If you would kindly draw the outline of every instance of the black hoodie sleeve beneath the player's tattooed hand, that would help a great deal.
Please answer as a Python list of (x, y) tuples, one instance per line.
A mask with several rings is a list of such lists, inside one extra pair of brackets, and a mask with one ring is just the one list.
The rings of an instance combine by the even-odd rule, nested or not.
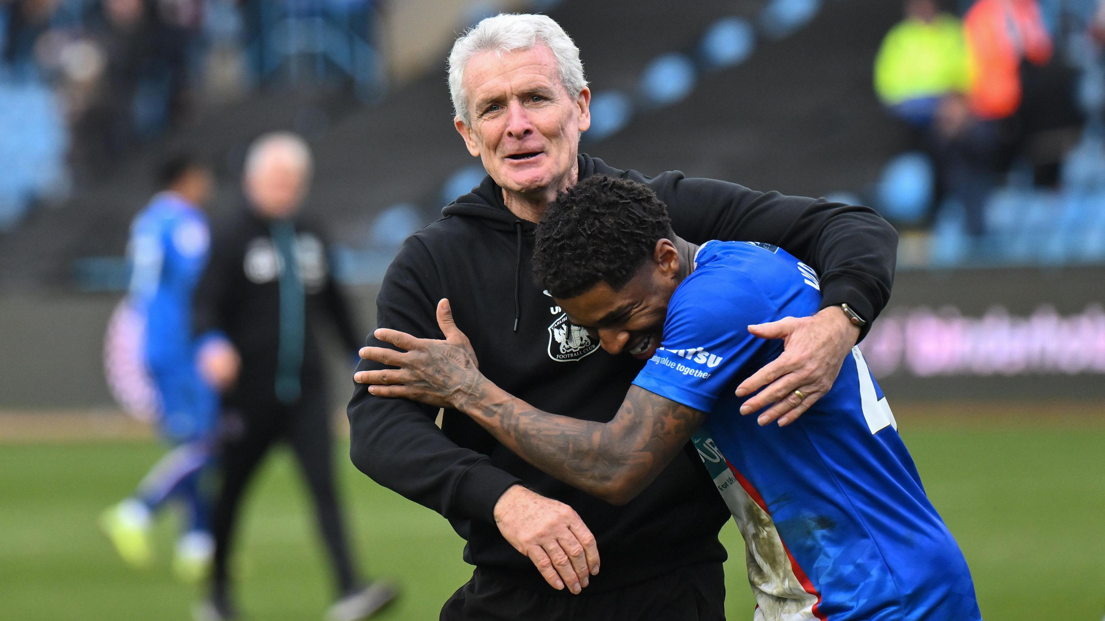
[[(438, 271), (418, 235), (388, 267), (377, 297), (379, 327), (420, 338), (443, 338), (435, 316), (441, 297)], [(366, 345), (391, 347), (368, 335)], [(361, 360), (358, 371), (385, 368)], [(522, 481), (462, 449), (434, 424), (438, 408), (385, 399), (356, 385), (347, 410), (352, 463), (373, 481), (450, 519), (494, 524), (495, 503)]]

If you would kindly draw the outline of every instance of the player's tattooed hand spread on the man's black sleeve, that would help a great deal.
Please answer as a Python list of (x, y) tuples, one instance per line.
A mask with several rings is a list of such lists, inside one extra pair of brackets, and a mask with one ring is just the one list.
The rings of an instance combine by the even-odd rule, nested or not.
[(438, 326), (445, 340), (414, 338), (387, 328), (373, 335), (406, 351), (387, 347), (362, 347), (360, 357), (398, 369), (357, 371), (352, 378), (369, 385), (377, 397), (412, 399), (438, 408), (463, 409), (465, 399), (474, 398), (485, 381), (469, 337), (456, 327), (448, 299), (438, 303)]

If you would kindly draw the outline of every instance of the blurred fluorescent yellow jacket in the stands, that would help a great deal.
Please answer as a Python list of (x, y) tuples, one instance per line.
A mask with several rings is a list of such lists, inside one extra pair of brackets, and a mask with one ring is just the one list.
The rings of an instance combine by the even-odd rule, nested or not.
[(906, 19), (891, 29), (875, 56), (875, 93), (887, 106), (908, 99), (965, 92), (967, 48), (959, 20)]

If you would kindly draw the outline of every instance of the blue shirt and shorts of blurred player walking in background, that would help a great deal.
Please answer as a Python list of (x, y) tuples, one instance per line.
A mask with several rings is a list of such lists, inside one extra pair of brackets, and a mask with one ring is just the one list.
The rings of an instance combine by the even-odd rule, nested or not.
[(172, 192), (155, 196), (131, 224), (129, 299), (143, 323), (143, 362), (162, 429), (178, 440), (207, 433), (218, 407), (196, 368), (191, 319), (209, 252), (207, 217)]

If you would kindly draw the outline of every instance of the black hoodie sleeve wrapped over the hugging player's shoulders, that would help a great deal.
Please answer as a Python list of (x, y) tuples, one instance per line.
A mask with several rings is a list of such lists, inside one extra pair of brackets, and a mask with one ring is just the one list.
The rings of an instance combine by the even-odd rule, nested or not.
[(897, 231), (869, 207), (757, 192), (715, 179), (665, 172), (651, 183), (680, 236), (778, 245), (818, 271), (821, 307), (846, 303), (867, 325), (886, 306), (894, 284)]

